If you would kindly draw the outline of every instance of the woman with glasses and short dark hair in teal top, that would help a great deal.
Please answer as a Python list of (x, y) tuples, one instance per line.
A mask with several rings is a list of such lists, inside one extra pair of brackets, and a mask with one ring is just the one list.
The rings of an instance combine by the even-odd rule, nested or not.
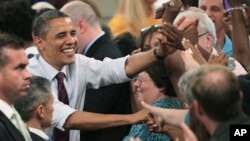
[[(181, 108), (169, 81), (163, 61), (159, 60), (154, 66), (139, 73), (133, 81), (135, 81), (135, 93), (133, 96), (136, 101), (143, 100), (148, 104), (161, 108)], [(139, 104), (136, 106), (137, 110), (141, 108)], [(133, 125), (124, 141), (129, 140), (130, 137), (139, 137), (143, 141), (168, 141), (171, 139), (165, 133), (148, 131), (146, 124)]]

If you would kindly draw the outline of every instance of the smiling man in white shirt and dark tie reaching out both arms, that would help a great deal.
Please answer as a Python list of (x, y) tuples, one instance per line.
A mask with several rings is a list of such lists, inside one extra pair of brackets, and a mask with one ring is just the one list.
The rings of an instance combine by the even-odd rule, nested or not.
[[(98, 61), (75, 54), (77, 37), (70, 18), (58, 10), (50, 10), (38, 16), (33, 22), (33, 40), (38, 47), (38, 55), (31, 58), (28, 69), (33, 75), (51, 81), (55, 98), (52, 124), (65, 129), (101, 129), (118, 125), (133, 124), (148, 117), (148, 111), (130, 115), (103, 115), (81, 112), (86, 88), (129, 81), (137, 73), (146, 69), (157, 59), (164, 58), (173, 49), (160, 47), (120, 59)], [(64, 85), (69, 105), (58, 100), (55, 76), (63, 72)], [(78, 111), (77, 111), (78, 110)], [(79, 131), (70, 131), (70, 140), (79, 141)]]

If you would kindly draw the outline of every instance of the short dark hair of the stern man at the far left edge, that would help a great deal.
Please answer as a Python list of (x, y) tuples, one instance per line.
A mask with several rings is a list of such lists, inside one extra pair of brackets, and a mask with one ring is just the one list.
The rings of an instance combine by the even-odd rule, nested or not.
[(21, 38), (7, 33), (0, 33), (0, 68), (8, 63), (8, 57), (5, 55), (5, 49), (23, 49), (24, 42)]

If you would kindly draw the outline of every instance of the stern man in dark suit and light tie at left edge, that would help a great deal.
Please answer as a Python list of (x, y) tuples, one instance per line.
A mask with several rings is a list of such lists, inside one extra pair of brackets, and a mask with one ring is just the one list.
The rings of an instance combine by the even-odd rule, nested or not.
[(31, 141), (27, 126), (14, 108), (14, 102), (27, 95), (31, 74), (24, 43), (0, 34), (0, 140)]

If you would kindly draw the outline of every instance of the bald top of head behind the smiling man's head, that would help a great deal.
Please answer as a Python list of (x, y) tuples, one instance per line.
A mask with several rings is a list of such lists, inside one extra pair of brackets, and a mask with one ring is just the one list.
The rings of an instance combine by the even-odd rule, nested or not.
[(89, 25), (98, 23), (98, 18), (92, 7), (82, 1), (71, 1), (65, 4), (60, 11), (67, 14), (73, 23), (79, 22), (82, 19)]

